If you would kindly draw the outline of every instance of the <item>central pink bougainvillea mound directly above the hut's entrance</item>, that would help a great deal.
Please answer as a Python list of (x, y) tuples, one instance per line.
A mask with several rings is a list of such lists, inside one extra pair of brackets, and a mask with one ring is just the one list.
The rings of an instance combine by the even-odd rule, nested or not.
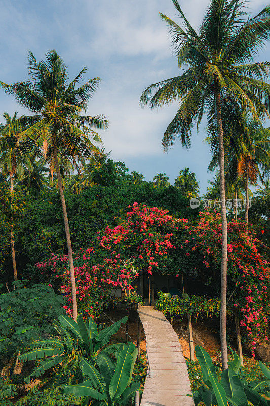
[(150, 275), (155, 270), (177, 275), (180, 269), (174, 251), (179, 236), (183, 239), (183, 235), (191, 234), (188, 220), (170, 216), (167, 210), (138, 203), (128, 206), (128, 209), (126, 220), (121, 225), (106, 227), (103, 235), (99, 233), (100, 246), (113, 255), (125, 252), (137, 269), (145, 269)]

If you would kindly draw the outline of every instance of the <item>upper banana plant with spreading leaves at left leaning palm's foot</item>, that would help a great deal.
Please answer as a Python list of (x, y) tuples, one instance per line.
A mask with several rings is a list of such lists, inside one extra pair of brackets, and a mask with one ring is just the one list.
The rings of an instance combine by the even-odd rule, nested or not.
[(79, 368), (79, 357), (83, 356), (91, 362), (96, 362), (95, 360), (98, 359), (99, 363), (113, 368), (108, 358), (108, 351), (112, 352), (113, 349), (120, 348), (121, 344), (102, 349), (109, 342), (110, 337), (119, 330), (121, 323), (126, 323), (127, 320), (127, 316), (123, 317), (98, 332), (92, 317), (88, 317), (85, 323), (82, 315), (78, 316), (77, 322), (68, 316), (60, 316), (54, 323), (58, 336), (34, 342), (30, 346), (30, 351), (19, 357), (20, 362), (39, 360), (39, 365), (25, 378), (25, 381), (30, 383), (32, 378), (40, 377), (46, 370), (61, 364), (61, 372), (57, 376), (59, 384), (80, 382), (83, 376)]

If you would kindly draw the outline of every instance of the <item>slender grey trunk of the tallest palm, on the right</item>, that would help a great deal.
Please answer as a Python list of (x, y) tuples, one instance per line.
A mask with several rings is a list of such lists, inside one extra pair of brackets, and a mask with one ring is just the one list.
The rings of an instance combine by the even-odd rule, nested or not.
[(221, 293), (220, 293), (220, 344), (222, 369), (228, 369), (227, 337), (226, 337), (226, 306), (227, 306), (227, 214), (225, 201), (225, 167), (224, 167), (224, 141), (221, 118), (220, 92), (215, 84), (217, 128), (219, 140), (219, 174), (220, 174), (220, 204), (222, 223), (221, 243)]

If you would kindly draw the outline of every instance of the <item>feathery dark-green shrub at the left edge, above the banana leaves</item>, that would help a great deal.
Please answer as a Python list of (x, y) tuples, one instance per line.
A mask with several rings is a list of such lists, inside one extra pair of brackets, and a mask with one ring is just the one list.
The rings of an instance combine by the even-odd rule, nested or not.
[(0, 350), (20, 351), (33, 340), (50, 334), (48, 320), (63, 313), (63, 298), (45, 284), (26, 287), (27, 281), (14, 282), (16, 289), (0, 295)]

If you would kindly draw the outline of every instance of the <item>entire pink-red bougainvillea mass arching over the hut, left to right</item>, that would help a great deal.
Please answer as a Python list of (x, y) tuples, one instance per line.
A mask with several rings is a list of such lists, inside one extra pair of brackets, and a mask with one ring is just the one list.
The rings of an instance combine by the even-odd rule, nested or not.
[[(74, 254), (79, 312), (97, 316), (112, 288), (132, 291), (142, 271), (192, 274), (188, 293), (220, 296), (221, 217), (216, 210), (200, 212), (196, 222), (177, 219), (168, 211), (134, 203), (115, 227), (99, 231), (93, 247)], [(259, 253), (260, 241), (242, 222), (228, 223), (228, 307), (240, 312), (241, 327), (252, 344), (267, 339), (269, 263)], [(72, 315), (68, 259), (52, 255), (38, 264), (61, 281)], [(192, 290), (192, 291), (191, 291)]]

